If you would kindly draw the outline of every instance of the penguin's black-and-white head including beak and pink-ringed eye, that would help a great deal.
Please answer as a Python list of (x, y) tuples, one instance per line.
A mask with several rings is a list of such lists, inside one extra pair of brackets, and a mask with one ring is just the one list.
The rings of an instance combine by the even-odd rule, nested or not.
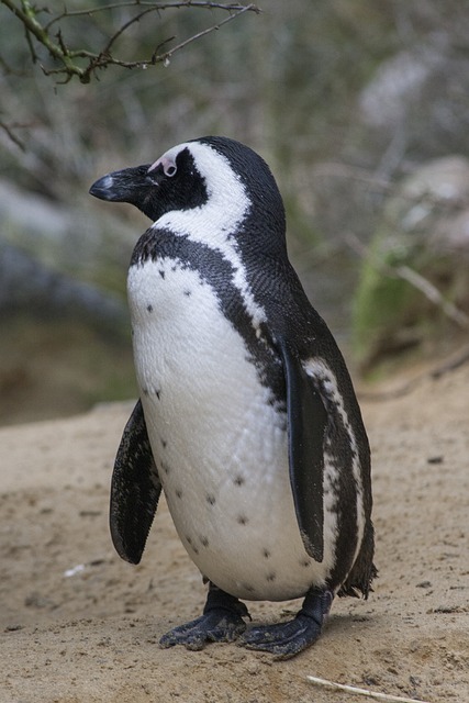
[(250, 215), (284, 234), (283, 203), (269, 167), (253, 149), (227, 137), (174, 146), (153, 164), (103, 176), (90, 193), (129, 202), (153, 222), (168, 213), (198, 210), (221, 222), (231, 215), (241, 223)]

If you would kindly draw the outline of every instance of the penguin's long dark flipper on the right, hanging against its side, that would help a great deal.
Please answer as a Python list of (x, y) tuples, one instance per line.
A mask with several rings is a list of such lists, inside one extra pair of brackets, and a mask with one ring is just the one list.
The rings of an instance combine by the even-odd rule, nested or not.
[(301, 537), (308, 554), (324, 557), (324, 434), (327, 411), (315, 379), (298, 352), (278, 339), (287, 386), (290, 484)]

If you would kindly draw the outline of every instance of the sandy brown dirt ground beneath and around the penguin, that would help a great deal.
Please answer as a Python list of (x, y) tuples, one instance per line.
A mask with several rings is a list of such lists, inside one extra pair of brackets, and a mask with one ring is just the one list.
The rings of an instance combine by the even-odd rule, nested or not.
[[(468, 702), (469, 364), (425, 373), (397, 398), (364, 394), (361, 405), (379, 579), (368, 601), (337, 600), (322, 638), (289, 661), (236, 645), (158, 647), (169, 627), (200, 614), (204, 587), (165, 505), (141, 566), (113, 551), (109, 482), (131, 405), (0, 429), (0, 702), (364, 700), (306, 674)], [(249, 607), (270, 621), (299, 603)]]

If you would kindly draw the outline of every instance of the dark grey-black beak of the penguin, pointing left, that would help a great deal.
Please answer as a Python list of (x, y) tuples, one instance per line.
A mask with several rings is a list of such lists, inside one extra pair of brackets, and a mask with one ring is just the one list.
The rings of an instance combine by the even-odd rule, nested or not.
[(155, 187), (155, 179), (148, 175), (150, 164), (112, 171), (98, 179), (90, 188), (90, 194), (100, 200), (137, 204), (145, 192)]

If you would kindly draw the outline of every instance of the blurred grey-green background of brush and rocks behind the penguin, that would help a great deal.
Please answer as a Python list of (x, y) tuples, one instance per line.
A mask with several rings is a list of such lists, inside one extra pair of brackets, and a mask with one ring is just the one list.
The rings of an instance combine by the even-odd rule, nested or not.
[[(291, 258), (355, 377), (382, 378), (464, 342), (469, 3), (259, 7), (165, 66), (110, 66), (82, 85), (45, 76), (40, 64), (52, 59), (34, 45), (33, 63), (0, 3), (0, 424), (136, 397), (125, 277), (147, 221), (88, 189), (206, 134), (269, 163)], [(64, 41), (99, 48), (131, 12), (64, 18)], [(119, 51), (138, 60), (225, 15), (167, 9), (129, 27)]]

